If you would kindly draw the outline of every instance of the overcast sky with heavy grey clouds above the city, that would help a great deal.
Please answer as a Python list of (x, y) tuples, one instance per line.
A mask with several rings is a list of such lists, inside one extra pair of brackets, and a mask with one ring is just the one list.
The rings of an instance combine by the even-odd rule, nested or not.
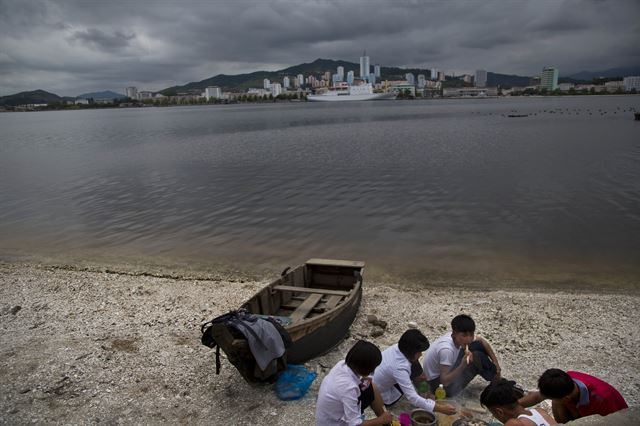
[(640, 0), (0, 0), (0, 95), (161, 90), (316, 58), (560, 75), (640, 65)]

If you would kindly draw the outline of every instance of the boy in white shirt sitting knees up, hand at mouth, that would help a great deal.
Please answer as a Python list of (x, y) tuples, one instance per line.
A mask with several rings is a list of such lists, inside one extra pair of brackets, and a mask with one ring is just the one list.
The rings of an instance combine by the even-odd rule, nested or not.
[(444, 385), (453, 396), (480, 375), (487, 381), (500, 379), (500, 364), (485, 339), (475, 336), (476, 324), (469, 315), (451, 321), (451, 333), (439, 337), (427, 350), (423, 367), (431, 389)]

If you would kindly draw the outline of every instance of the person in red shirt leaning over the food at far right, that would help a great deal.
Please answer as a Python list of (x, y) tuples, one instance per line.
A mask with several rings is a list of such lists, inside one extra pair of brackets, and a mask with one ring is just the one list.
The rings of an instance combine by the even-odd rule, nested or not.
[(553, 417), (566, 423), (580, 417), (606, 416), (628, 408), (620, 392), (597, 377), (577, 371), (551, 368), (538, 379), (538, 390), (529, 392), (520, 403), (525, 407), (551, 399)]

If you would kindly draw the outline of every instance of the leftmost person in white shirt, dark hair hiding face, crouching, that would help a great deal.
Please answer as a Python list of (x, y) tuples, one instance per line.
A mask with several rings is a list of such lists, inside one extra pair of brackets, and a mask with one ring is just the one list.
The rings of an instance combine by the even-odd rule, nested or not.
[[(359, 340), (322, 380), (316, 403), (318, 426), (379, 426), (391, 423), (393, 416), (385, 410), (377, 387), (369, 377), (382, 361), (380, 349)], [(375, 419), (364, 420), (364, 410), (371, 407)]]

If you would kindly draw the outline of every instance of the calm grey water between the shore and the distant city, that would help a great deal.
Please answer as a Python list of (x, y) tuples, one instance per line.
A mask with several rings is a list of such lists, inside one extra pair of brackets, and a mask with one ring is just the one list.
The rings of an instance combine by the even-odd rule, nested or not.
[(632, 109), (640, 97), (0, 114), (0, 257), (633, 280)]

